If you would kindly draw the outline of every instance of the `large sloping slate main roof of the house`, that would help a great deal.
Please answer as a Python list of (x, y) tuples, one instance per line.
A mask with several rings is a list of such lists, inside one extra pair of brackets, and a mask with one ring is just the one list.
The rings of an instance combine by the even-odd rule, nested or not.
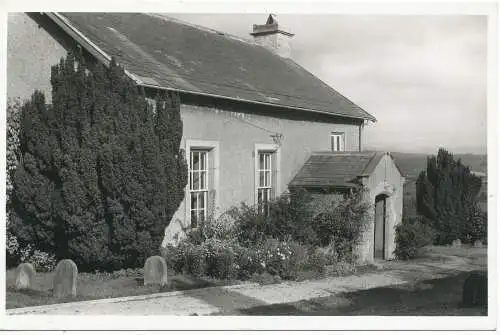
[(294, 61), (251, 41), (157, 14), (47, 15), (89, 42), (85, 48), (115, 57), (140, 85), (375, 121)]

